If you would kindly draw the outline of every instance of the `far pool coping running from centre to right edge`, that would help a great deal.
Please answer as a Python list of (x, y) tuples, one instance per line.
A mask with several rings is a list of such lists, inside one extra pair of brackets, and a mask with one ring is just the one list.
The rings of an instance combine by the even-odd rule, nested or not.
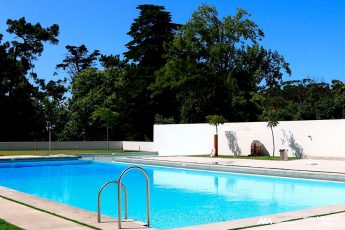
[(119, 163), (144, 164), (152, 166), (174, 167), (183, 169), (207, 170), (215, 172), (230, 172), (242, 174), (254, 174), (264, 176), (277, 176), (289, 178), (302, 178), (313, 180), (327, 180), (345, 182), (345, 173), (326, 172), (326, 171), (309, 171), (309, 170), (294, 170), (284, 168), (267, 168), (267, 167), (252, 167), (252, 166), (236, 166), (226, 164), (210, 164), (200, 162), (183, 162), (183, 161), (164, 161), (156, 159), (145, 159), (136, 157), (120, 157), (115, 160)]

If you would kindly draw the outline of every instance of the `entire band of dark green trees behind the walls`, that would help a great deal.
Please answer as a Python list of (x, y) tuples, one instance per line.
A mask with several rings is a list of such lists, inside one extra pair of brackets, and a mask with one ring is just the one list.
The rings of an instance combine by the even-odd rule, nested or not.
[[(153, 124), (345, 118), (345, 86), (311, 79), (283, 81), (291, 70), (266, 49), (264, 32), (242, 9), (219, 17), (202, 5), (184, 25), (162, 6), (140, 5), (127, 51), (104, 55), (66, 46), (63, 80), (45, 82), (33, 61), (58, 43), (58, 25), (25, 18), (0, 34), (0, 141), (149, 140)], [(303, 76), (297, 76), (299, 78)], [(301, 78), (302, 79), (302, 78)], [(106, 128), (106, 129), (105, 129)]]

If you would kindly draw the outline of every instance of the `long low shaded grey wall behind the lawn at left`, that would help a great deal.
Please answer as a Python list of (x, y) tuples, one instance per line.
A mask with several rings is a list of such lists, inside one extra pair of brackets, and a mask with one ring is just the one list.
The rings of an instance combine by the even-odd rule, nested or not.
[[(110, 149), (122, 149), (122, 141), (109, 141)], [(46, 150), (48, 142), (0, 142), (0, 150)], [(51, 149), (107, 149), (106, 141), (51, 142)]]

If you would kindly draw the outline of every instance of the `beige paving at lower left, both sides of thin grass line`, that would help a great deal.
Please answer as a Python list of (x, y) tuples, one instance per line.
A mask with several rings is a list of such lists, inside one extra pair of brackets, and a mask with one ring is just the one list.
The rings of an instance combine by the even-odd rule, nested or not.
[[(117, 229), (116, 219), (103, 216), (102, 223), (97, 223), (97, 214), (83, 209), (60, 204), (1, 186), (0, 195), (93, 227), (106, 230)], [(4, 219), (24, 229), (90, 229), (72, 221), (3, 198), (0, 198), (0, 219)], [(136, 221), (122, 222), (122, 227), (127, 229), (148, 229), (143, 226), (142, 223)]]

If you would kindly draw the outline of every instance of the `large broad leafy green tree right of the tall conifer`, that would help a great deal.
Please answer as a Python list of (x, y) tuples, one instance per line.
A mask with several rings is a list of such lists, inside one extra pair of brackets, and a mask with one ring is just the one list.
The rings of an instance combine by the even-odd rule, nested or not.
[(167, 64), (153, 86), (157, 97), (176, 100), (181, 122), (202, 122), (210, 113), (229, 121), (256, 119), (250, 93), (263, 81), (273, 87), (289, 65), (277, 52), (259, 45), (264, 34), (245, 10), (218, 17), (203, 5), (181, 27), (167, 54)]

